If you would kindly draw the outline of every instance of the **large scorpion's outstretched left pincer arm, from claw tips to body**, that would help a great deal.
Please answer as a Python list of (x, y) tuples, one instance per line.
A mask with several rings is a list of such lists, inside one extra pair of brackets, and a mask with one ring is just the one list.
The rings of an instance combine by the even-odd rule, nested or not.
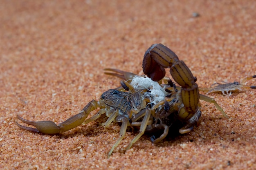
[(66, 121), (60, 123), (59, 125), (56, 125), (53, 121), (29, 121), (26, 119), (23, 119), (20, 116), (17, 116), (17, 118), (21, 121), (23, 121), (25, 124), (35, 126), (36, 128), (30, 128), (26, 126), (22, 126), (18, 124), (16, 121), (16, 125), (24, 130), (28, 130), (31, 132), (40, 132), (45, 134), (56, 134), (60, 132), (65, 132), (67, 130), (73, 129), (85, 121), (85, 119), (88, 117), (89, 113), (92, 110), (97, 109), (97, 107), (101, 107), (100, 102), (97, 102), (95, 100), (92, 100), (89, 102), (77, 115), (74, 115), (67, 119)]

